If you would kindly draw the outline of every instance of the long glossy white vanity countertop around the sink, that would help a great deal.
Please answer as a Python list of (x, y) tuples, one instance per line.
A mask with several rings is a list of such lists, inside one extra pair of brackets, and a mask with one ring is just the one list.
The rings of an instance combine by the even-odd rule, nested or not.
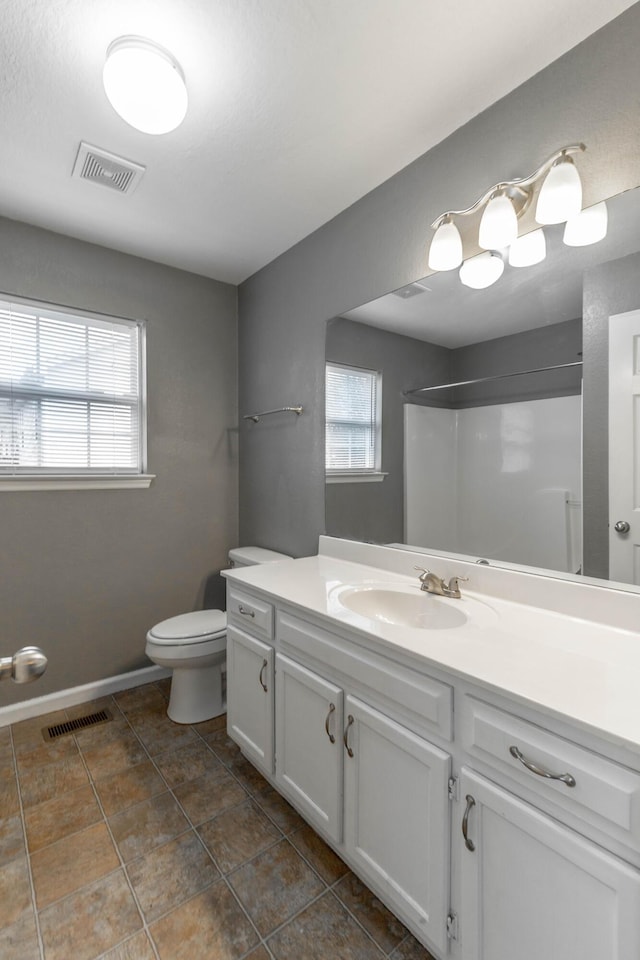
[[(322, 538), (321, 543), (327, 540)], [(369, 548), (370, 556), (376, 562), (397, 567), (393, 558), (387, 562), (387, 556), (379, 552), (381, 549), (387, 550)], [(395, 553), (397, 551), (388, 551), (389, 556)], [(411, 571), (414, 555), (407, 560), (404, 552), (402, 559), (407, 571)], [(425, 557), (417, 555), (417, 560), (420, 559), (426, 565)], [(477, 568), (473, 572), (478, 574)], [(447, 570), (444, 573), (450, 575)], [(425, 664), (551, 711), (640, 752), (640, 633), (617, 625), (621, 618), (614, 615), (616, 600), (619, 605), (626, 605), (622, 617), (625, 623), (633, 619), (634, 610), (629, 604), (637, 605), (640, 628), (640, 596), (629, 601), (626, 595), (616, 598), (615, 591), (580, 585), (581, 593), (576, 595), (574, 591), (572, 603), (567, 604), (568, 609), (573, 607), (570, 615), (507, 599), (510, 576), (519, 578), (512, 580), (513, 593), (522, 597), (523, 590), (530, 589), (536, 603), (544, 601), (545, 589), (550, 596), (559, 593), (562, 597), (562, 588), (557, 582), (545, 585), (540, 583), (543, 578), (535, 575), (483, 569), (475, 580), (486, 585), (491, 584), (493, 578), (499, 586), (499, 589), (494, 586), (494, 593), (465, 590), (462, 584), (460, 600), (442, 601), (469, 611), (464, 625), (420, 629), (371, 620), (339, 602), (340, 588), (345, 584), (384, 587), (403, 583), (419, 592), (417, 574), (403, 576), (396, 569), (354, 563), (340, 556), (318, 555), (233, 569), (225, 571), (225, 576), (238, 586), (246, 584), (301, 612), (324, 618), (328, 629), (333, 627), (340, 632), (340, 627), (347, 628), (362, 638), (360, 642), (373, 637), (379, 645), (401, 649)], [(531, 584), (523, 587), (523, 577)], [(572, 586), (567, 585), (568, 596)], [(595, 600), (588, 593), (593, 590), (601, 591)], [(501, 596), (497, 595), (500, 593)], [(602, 611), (599, 622), (575, 615), (576, 596), (589, 611), (599, 600)], [(557, 607), (558, 603), (554, 603)], [(611, 609), (611, 617), (607, 607)], [(612, 622), (607, 623), (607, 619)]]

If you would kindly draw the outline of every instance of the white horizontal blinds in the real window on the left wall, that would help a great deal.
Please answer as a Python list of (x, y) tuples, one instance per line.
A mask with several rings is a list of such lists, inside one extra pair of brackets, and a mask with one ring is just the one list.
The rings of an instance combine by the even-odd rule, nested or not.
[(142, 328), (0, 300), (0, 474), (143, 469)]

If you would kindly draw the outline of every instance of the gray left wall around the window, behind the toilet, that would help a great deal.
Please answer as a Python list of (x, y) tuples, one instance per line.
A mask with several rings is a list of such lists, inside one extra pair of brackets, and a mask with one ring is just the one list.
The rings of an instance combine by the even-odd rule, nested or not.
[(237, 543), (236, 288), (0, 219), (0, 290), (147, 321), (148, 490), (0, 492), (0, 652), (42, 646), (0, 705), (149, 665)]

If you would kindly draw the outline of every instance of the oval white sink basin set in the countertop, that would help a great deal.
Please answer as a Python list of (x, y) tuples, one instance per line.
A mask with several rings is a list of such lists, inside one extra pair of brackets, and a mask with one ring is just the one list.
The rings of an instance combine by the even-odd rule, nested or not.
[(353, 587), (340, 591), (339, 602), (368, 620), (418, 630), (449, 630), (467, 622), (459, 600), (434, 596), (424, 591), (393, 590), (384, 587)]

